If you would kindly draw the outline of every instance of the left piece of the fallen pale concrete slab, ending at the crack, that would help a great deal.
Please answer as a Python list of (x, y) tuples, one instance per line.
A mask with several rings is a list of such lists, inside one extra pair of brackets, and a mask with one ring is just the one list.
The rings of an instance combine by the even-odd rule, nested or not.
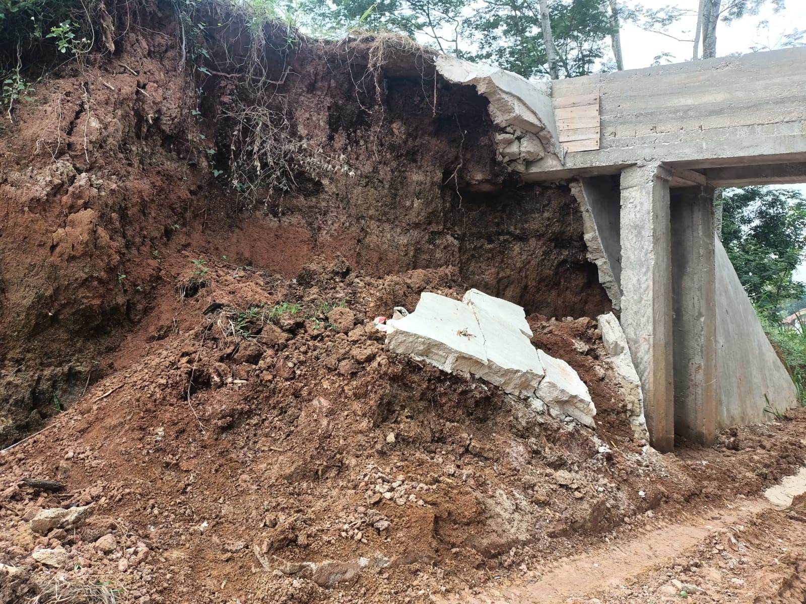
[(387, 321), (386, 343), (448, 373), (476, 373), (487, 364), (484, 336), (467, 304), (423, 292), (414, 312)]

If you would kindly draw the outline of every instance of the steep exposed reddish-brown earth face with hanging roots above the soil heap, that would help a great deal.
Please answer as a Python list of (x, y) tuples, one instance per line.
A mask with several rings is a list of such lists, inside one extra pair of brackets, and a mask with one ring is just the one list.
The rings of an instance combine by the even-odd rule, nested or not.
[(371, 275), (455, 267), (527, 312), (609, 309), (568, 189), (511, 179), (488, 101), (422, 48), (256, 38), (218, 5), (107, 10), (114, 52), (48, 73), (0, 130), (0, 443), (110, 370), (181, 250), (283, 275), (334, 252)]

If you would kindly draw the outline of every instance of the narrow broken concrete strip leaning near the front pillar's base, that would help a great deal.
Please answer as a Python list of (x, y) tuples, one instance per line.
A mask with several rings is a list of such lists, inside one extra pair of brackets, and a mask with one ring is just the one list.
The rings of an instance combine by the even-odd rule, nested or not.
[(632, 426), (636, 438), (648, 438), (641, 381), (638, 379), (638, 372), (635, 370), (633, 357), (629, 353), (627, 338), (621, 329), (621, 324), (613, 312), (598, 316), (597, 321), (599, 321), (599, 330), (602, 333), (602, 344), (605, 346), (608, 360), (618, 376), (619, 386), (624, 393), (629, 424)]

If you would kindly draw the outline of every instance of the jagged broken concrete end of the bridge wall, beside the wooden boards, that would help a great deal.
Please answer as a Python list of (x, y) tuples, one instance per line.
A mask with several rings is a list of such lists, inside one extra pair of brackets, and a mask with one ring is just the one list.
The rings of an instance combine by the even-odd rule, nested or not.
[[(435, 65), (447, 81), (475, 86), (476, 91), (490, 101), (488, 109), (492, 121), (513, 134), (512, 139), (505, 137), (499, 140), (502, 160), (506, 162), (509, 159), (516, 164), (511, 168), (522, 172), (526, 169), (526, 162), (542, 159), (535, 156), (540, 153), (535, 148), (538, 141), (545, 154), (554, 156), (551, 158), (552, 163), (563, 163), (565, 150), (559, 144), (549, 82), (526, 80), (517, 73), (471, 63), (454, 56), (440, 55)], [(511, 147), (516, 138), (526, 141), (522, 154), (520, 144), (517, 151)], [(517, 157), (513, 157), (515, 152)]]

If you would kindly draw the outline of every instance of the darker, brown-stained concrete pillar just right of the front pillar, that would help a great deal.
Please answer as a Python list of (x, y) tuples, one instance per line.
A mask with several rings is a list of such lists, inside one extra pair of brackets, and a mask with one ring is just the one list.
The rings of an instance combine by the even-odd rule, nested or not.
[(713, 188), (671, 190), (675, 432), (701, 445), (717, 435), (717, 275)]

